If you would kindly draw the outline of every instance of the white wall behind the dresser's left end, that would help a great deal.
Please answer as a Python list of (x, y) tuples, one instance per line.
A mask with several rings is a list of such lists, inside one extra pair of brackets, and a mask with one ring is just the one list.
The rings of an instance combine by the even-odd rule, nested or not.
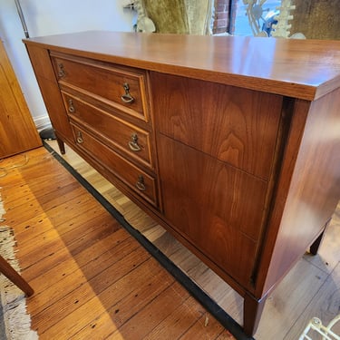
[[(126, 0), (20, 0), (30, 37), (88, 30), (132, 31), (135, 12)], [(0, 0), (0, 37), (37, 128), (49, 122), (22, 39), (15, 0)]]

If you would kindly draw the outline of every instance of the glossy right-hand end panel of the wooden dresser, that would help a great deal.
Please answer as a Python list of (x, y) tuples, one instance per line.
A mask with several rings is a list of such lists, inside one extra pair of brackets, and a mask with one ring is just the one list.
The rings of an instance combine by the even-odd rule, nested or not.
[[(335, 211), (340, 197), (339, 107), (340, 90), (316, 102), (296, 102), (291, 139), (279, 181), (280, 197), (270, 221), (272, 225), (279, 225), (279, 230), (265, 289), (272, 287), (301, 257)], [(304, 119), (306, 125), (302, 124)], [(282, 202), (286, 203), (284, 207)], [(271, 242), (267, 242), (267, 251), (270, 245)], [(264, 257), (263, 264), (266, 260)]]

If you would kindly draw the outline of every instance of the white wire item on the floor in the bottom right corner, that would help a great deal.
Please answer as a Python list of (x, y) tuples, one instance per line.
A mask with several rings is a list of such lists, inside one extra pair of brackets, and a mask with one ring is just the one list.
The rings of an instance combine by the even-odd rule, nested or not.
[[(328, 324), (323, 325), (321, 320), (317, 317), (313, 317), (309, 324), (306, 325), (306, 328), (302, 335), (298, 338), (298, 340), (314, 340), (315, 338), (310, 337), (311, 333), (317, 335), (317, 339), (322, 340), (340, 340), (340, 335), (336, 335), (332, 331), (332, 327), (340, 321), (340, 314), (335, 316), (335, 318)], [(309, 335), (308, 335), (309, 334)], [(322, 337), (321, 337), (322, 336)]]

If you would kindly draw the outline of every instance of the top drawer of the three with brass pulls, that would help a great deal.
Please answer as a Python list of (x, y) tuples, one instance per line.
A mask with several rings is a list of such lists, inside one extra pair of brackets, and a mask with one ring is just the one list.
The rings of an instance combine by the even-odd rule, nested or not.
[(58, 82), (148, 121), (145, 73), (111, 63), (51, 53)]

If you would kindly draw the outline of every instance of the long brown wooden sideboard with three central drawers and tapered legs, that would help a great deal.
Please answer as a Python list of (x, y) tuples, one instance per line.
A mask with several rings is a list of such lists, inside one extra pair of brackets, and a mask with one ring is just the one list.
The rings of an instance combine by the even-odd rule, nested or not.
[(237, 290), (253, 335), (340, 199), (340, 42), (84, 32), (24, 44), (61, 150)]

